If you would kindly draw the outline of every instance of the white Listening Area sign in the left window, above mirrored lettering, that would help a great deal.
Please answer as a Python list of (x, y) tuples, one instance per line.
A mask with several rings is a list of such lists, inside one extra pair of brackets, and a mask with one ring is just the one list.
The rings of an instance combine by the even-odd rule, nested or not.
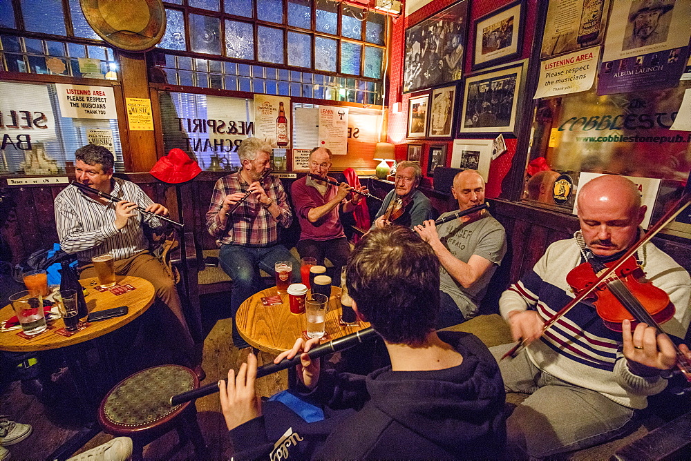
[(117, 119), (111, 86), (55, 84), (55, 91), (62, 117)]

